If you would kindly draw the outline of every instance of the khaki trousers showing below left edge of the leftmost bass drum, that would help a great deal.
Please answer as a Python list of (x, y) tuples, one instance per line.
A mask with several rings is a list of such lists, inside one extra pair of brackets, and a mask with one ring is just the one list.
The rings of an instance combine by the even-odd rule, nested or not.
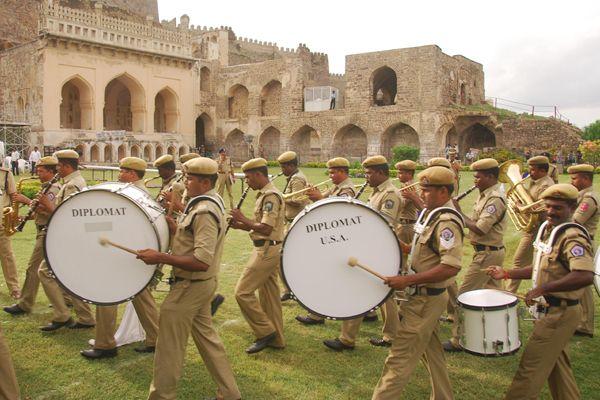
[[(48, 297), (48, 300), (52, 304), (52, 312), (54, 314), (52, 321), (65, 322), (71, 318), (71, 312), (69, 311), (67, 303), (65, 302), (64, 291), (60, 288), (56, 282), (56, 279), (54, 279), (54, 276), (48, 269), (48, 264), (46, 264), (45, 260), (40, 264), (38, 277), (40, 278), (40, 283), (44, 288), (46, 297)], [(94, 325), (96, 321), (94, 320), (94, 315), (92, 314), (90, 306), (75, 296), (69, 297), (73, 303), (73, 309), (75, 310), (75, 315), (77, 315), (77, 321), (85, 325)]]

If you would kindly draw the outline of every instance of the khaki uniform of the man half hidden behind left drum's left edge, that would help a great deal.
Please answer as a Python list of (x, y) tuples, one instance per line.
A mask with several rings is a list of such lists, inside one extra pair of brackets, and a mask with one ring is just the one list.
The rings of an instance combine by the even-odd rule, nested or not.
[[(60, 205), (67, 197), (72, 194), (81, 192), (82, 189), (86, 187), (85, 179), (81, 176), (79, 171), (74, 171), (73, 173), (67, 175), (63, 178), (63, 185), (56, 194), (56, 198), (54, 199), (54, 204), (57, 206)], [(46, 293), (46, 297), (52, 304), (53, 317), (52, 321), (54, 322), (65, 322), (71, 317), (71, 312), (67, 307), (64, 299), (64, 291), (54, 279), (54, 275), (48, 269), (48, 264), (46, 260), (43, 260), (40, 263), (40, 269), (38, 270), (38, 277), (40, 278), (40, 282), (42, 287), (44, 288), (44, 292)], [(92, 310), (87, 303), (84, 303), (82, 300), (78, 299), (75, 296), (71, 296), (71, 302), (73, 303), (73, 309), (75, 310), (75, 314), (77, 315), (78, 322), (85, 325), (94, 325), (94, 315), (92, 314)]]

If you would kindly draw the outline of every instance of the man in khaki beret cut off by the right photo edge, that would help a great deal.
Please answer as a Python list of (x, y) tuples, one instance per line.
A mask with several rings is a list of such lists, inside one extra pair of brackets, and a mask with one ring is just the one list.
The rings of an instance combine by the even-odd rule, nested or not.
[[(594, 192), (594, 166), (589, 164), (574, 165), (567, 169), (571, 175), (571, 184), (579, 190), (577, 211), (573, 214), (573, 222), (583, 225), (594, 238), (598, 227), (598, 206), (600, 197)], [(583, 316), (575, 331), (578, 336), (594, 336), (594, 292), (591, 286), (583, 291), (581, 297)]]

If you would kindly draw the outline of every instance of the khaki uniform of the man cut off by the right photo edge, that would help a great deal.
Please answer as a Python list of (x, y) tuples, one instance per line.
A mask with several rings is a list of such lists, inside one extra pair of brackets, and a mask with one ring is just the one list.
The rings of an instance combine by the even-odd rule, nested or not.
[[(580, 225), (583, 225), (589, 232), (590, 236), (594, 238), (596, 229), (598, 227), (598, 219), (600, 213), (598, 212), (598, 206), (600, 206), (600, 198), (594, 193), (593, 187), (583, 189), (579, 192), (577, 199), (577, 211), (573, 214), (573, 221)], [(583, 291), (581, 297), (581, 309), (583, 317), (581, 324), (577, 328), (578, 331), (583, 333), (594, 334), (594, 290), (592, 286), (588, 286)]]

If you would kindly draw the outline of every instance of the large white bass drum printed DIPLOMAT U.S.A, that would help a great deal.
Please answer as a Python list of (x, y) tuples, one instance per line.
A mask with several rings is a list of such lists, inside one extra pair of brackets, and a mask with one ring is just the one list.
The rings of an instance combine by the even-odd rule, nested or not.
[(396, 234), (381, 214), (358, 200), (324, 199), (292, 222), (281, 254), (283, 279), (311, 313), (356, 318), (379, 307), (392, 290), (348, 266), (350, 257), (384, 276), (398, 275), (402, 264)]

